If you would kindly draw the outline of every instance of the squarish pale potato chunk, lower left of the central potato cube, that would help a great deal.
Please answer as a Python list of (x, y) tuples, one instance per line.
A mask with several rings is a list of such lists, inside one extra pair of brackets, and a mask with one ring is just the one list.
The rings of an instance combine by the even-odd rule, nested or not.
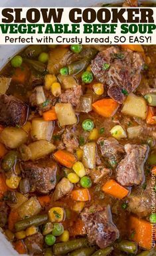
[(50, 141), (53, 130), (54, 126), (52, 121), (44, 121), (42, 118), (32, 120), (31, 135), (37, 140)]

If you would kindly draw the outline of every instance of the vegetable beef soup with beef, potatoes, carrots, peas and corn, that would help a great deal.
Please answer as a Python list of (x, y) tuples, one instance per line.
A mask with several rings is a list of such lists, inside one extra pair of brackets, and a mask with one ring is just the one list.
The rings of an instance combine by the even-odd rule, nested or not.
[(32, 45), (1, 70), (0, 226), (19, 253), (156, 255), (155, 59)]

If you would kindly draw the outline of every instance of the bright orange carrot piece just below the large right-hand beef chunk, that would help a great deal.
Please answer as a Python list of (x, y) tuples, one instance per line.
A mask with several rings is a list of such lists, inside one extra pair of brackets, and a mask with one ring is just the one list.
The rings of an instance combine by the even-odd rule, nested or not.
[(119, 185), (116, 180), (108, 180), (108, 182), (106, 182), (106, 184), (104, 184), (104, 186), (102, 187), (102, 191), (119, 199), (125, 197), (129, 192), (128, 190), (126, 190), (126, 188)]

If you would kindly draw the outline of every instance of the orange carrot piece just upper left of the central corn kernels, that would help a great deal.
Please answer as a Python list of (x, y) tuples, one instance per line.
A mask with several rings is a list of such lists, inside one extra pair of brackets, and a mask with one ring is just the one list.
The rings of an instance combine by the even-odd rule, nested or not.
[(66, 150), (58, 150), (54, 153), (54, 158), (62, 164), (62, 166), (66, 166), (67, 168), (72, 168), (73, 164), (76, 162), (76, 157), (74, 154)]

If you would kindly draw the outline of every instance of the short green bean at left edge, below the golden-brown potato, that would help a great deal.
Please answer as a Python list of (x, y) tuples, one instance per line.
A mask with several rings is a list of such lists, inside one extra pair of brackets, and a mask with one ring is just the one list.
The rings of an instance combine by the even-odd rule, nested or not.
[(5, 172), (9, 172), (11, 168), (15, 165), (17, 161), (17, 152), (11, 151), (8, 154), (6, 154), (1, 162), (1, 168)]

